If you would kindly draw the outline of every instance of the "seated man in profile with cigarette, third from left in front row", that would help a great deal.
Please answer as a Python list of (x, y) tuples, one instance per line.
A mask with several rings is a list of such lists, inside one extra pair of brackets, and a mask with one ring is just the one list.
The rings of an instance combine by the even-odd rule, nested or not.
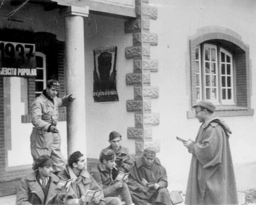
[(130, 196), (129, 188), (126, 185), (125, 174), (118, 177), (120, 180), (114, 180), (112, 170), (116, 161), (116, 154), (111, 149), (103, 149), (100, 154), (100, 162), (93, 167), (91, 174), (98, 185), (103, 188), (105, 202), (107, 205), (121, 205), (122, 200), (126, 205), (134, 205)]

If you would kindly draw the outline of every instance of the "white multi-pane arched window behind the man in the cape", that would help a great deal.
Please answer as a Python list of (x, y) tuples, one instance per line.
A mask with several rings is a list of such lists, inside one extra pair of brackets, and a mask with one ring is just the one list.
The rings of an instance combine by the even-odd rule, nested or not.
[(215, 44), (199, 44), (195, 66), (197, 101), (234, 105), (233, 55)]

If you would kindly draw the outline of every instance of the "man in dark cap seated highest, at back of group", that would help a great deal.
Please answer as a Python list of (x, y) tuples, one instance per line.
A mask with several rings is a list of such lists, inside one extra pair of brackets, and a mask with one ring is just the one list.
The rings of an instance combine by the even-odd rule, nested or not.
[(113, 170), (113, 178), (116, 178), (116, 175), (119, 171), (129, 172), (130, 169), (134, 166), (134, 159), (129, 154), (129, 150), (121, 146), (122, 136), (113, 131), (109, 133), (109, 146), (105, 149), (111, 149), (116, 153), (116, 170)]

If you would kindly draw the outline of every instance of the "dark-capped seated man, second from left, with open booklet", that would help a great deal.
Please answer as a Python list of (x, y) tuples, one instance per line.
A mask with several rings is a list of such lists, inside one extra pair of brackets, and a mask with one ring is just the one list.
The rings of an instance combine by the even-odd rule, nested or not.
[(85, 157), (80, 151), (69, 156), (65, 169), (58, 173), (61, 180), (71, 180), (66, 194), (66, 204), (74, 205), (103, 205), (104, 196), (101, 187), (86, 169)]

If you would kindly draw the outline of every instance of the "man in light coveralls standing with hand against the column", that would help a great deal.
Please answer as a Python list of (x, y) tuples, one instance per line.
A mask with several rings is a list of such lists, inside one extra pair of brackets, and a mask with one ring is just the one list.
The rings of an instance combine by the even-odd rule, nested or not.
[(61, 136), (57, 128), (59, 107), (67, 106), (74, 101), (69, 94), (58, 98), (59, 82), (48, 80), (46, 89), (30, 106), (33, 130), (30, 135), (30, 149), (33, 160), (48, 154), (54, 161), (54, 172), (64, 169), (64, 158), (61, 154)]

